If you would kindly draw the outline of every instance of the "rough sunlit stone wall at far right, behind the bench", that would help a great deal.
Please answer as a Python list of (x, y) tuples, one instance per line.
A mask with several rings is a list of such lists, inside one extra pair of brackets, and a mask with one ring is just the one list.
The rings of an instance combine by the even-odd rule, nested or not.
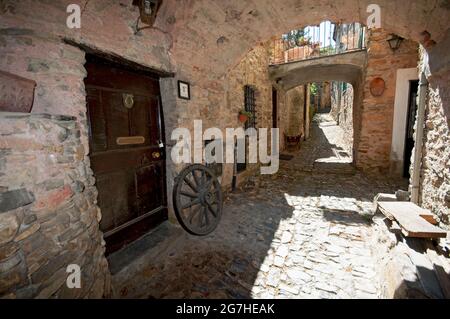
[[(446, 41), (421, 50), (421, 67), (428, 77), (420, 204), (435, 214), (440, 226), (450, 230), (450, 32)], [(426, 60), (425, 60), (426, 57)], [(428, 63), (427, 61), (439, 61)], [(414, 159), (413, 159), (414, 160)]]

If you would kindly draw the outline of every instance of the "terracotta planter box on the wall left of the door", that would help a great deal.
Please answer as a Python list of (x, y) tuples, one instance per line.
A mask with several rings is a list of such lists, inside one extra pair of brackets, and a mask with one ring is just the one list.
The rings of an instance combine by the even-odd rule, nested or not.
[(0, 112), (30, 113), (36, 82), (0, 71)]

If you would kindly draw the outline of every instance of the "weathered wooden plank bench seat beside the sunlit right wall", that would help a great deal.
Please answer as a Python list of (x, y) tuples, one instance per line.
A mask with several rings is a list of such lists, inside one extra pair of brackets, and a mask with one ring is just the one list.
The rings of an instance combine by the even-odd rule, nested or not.
[[(436, 227), (417, 213), (402, 209), (399, 205), (389, 205), (393, 202), (379, 202), (380, 211), (389, 219), (396, 220), (406, 237), (417, 238), (445, 238), (447, 233)], [(403, 202), (402, 202), (403, 203)], [(417, 210), (416, 210), (417, 212)]]

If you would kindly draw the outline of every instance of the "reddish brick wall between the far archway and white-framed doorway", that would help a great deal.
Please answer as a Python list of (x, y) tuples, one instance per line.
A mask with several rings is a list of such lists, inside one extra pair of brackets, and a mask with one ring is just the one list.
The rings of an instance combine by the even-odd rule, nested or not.
[[(369, 172), (389, 170), (397, 69), (414, 68), (419, 59), (417, 43), (404, 40), (394, 53), (387, 39), (389, 33), (382, 29), (369, 31), (360, 138), (356, 149), (357, 167)], [(386, 89), (375, 97), (370, 93), (370, 83), (377, 77), (385, 81)]]

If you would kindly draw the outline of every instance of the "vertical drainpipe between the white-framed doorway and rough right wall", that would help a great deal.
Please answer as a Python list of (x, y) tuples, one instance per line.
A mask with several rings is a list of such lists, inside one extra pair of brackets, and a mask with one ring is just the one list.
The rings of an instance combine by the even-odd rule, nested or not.
[(415, 204), (419, 204), (419, 191), (420, 191), (420, 168), (422, 166), (422, 154), (423, 154), (423, 132), (425, 122), (425, 103), (428, 89), (428, 80), (425, 73), (422, 72), (419, 83), (419, 105), (417, 108), (417, 123), (415, 132), (415, 146), (414, 146), (414, 166), (412, 172), (412, 185), (411, 185), (411, 201)]

